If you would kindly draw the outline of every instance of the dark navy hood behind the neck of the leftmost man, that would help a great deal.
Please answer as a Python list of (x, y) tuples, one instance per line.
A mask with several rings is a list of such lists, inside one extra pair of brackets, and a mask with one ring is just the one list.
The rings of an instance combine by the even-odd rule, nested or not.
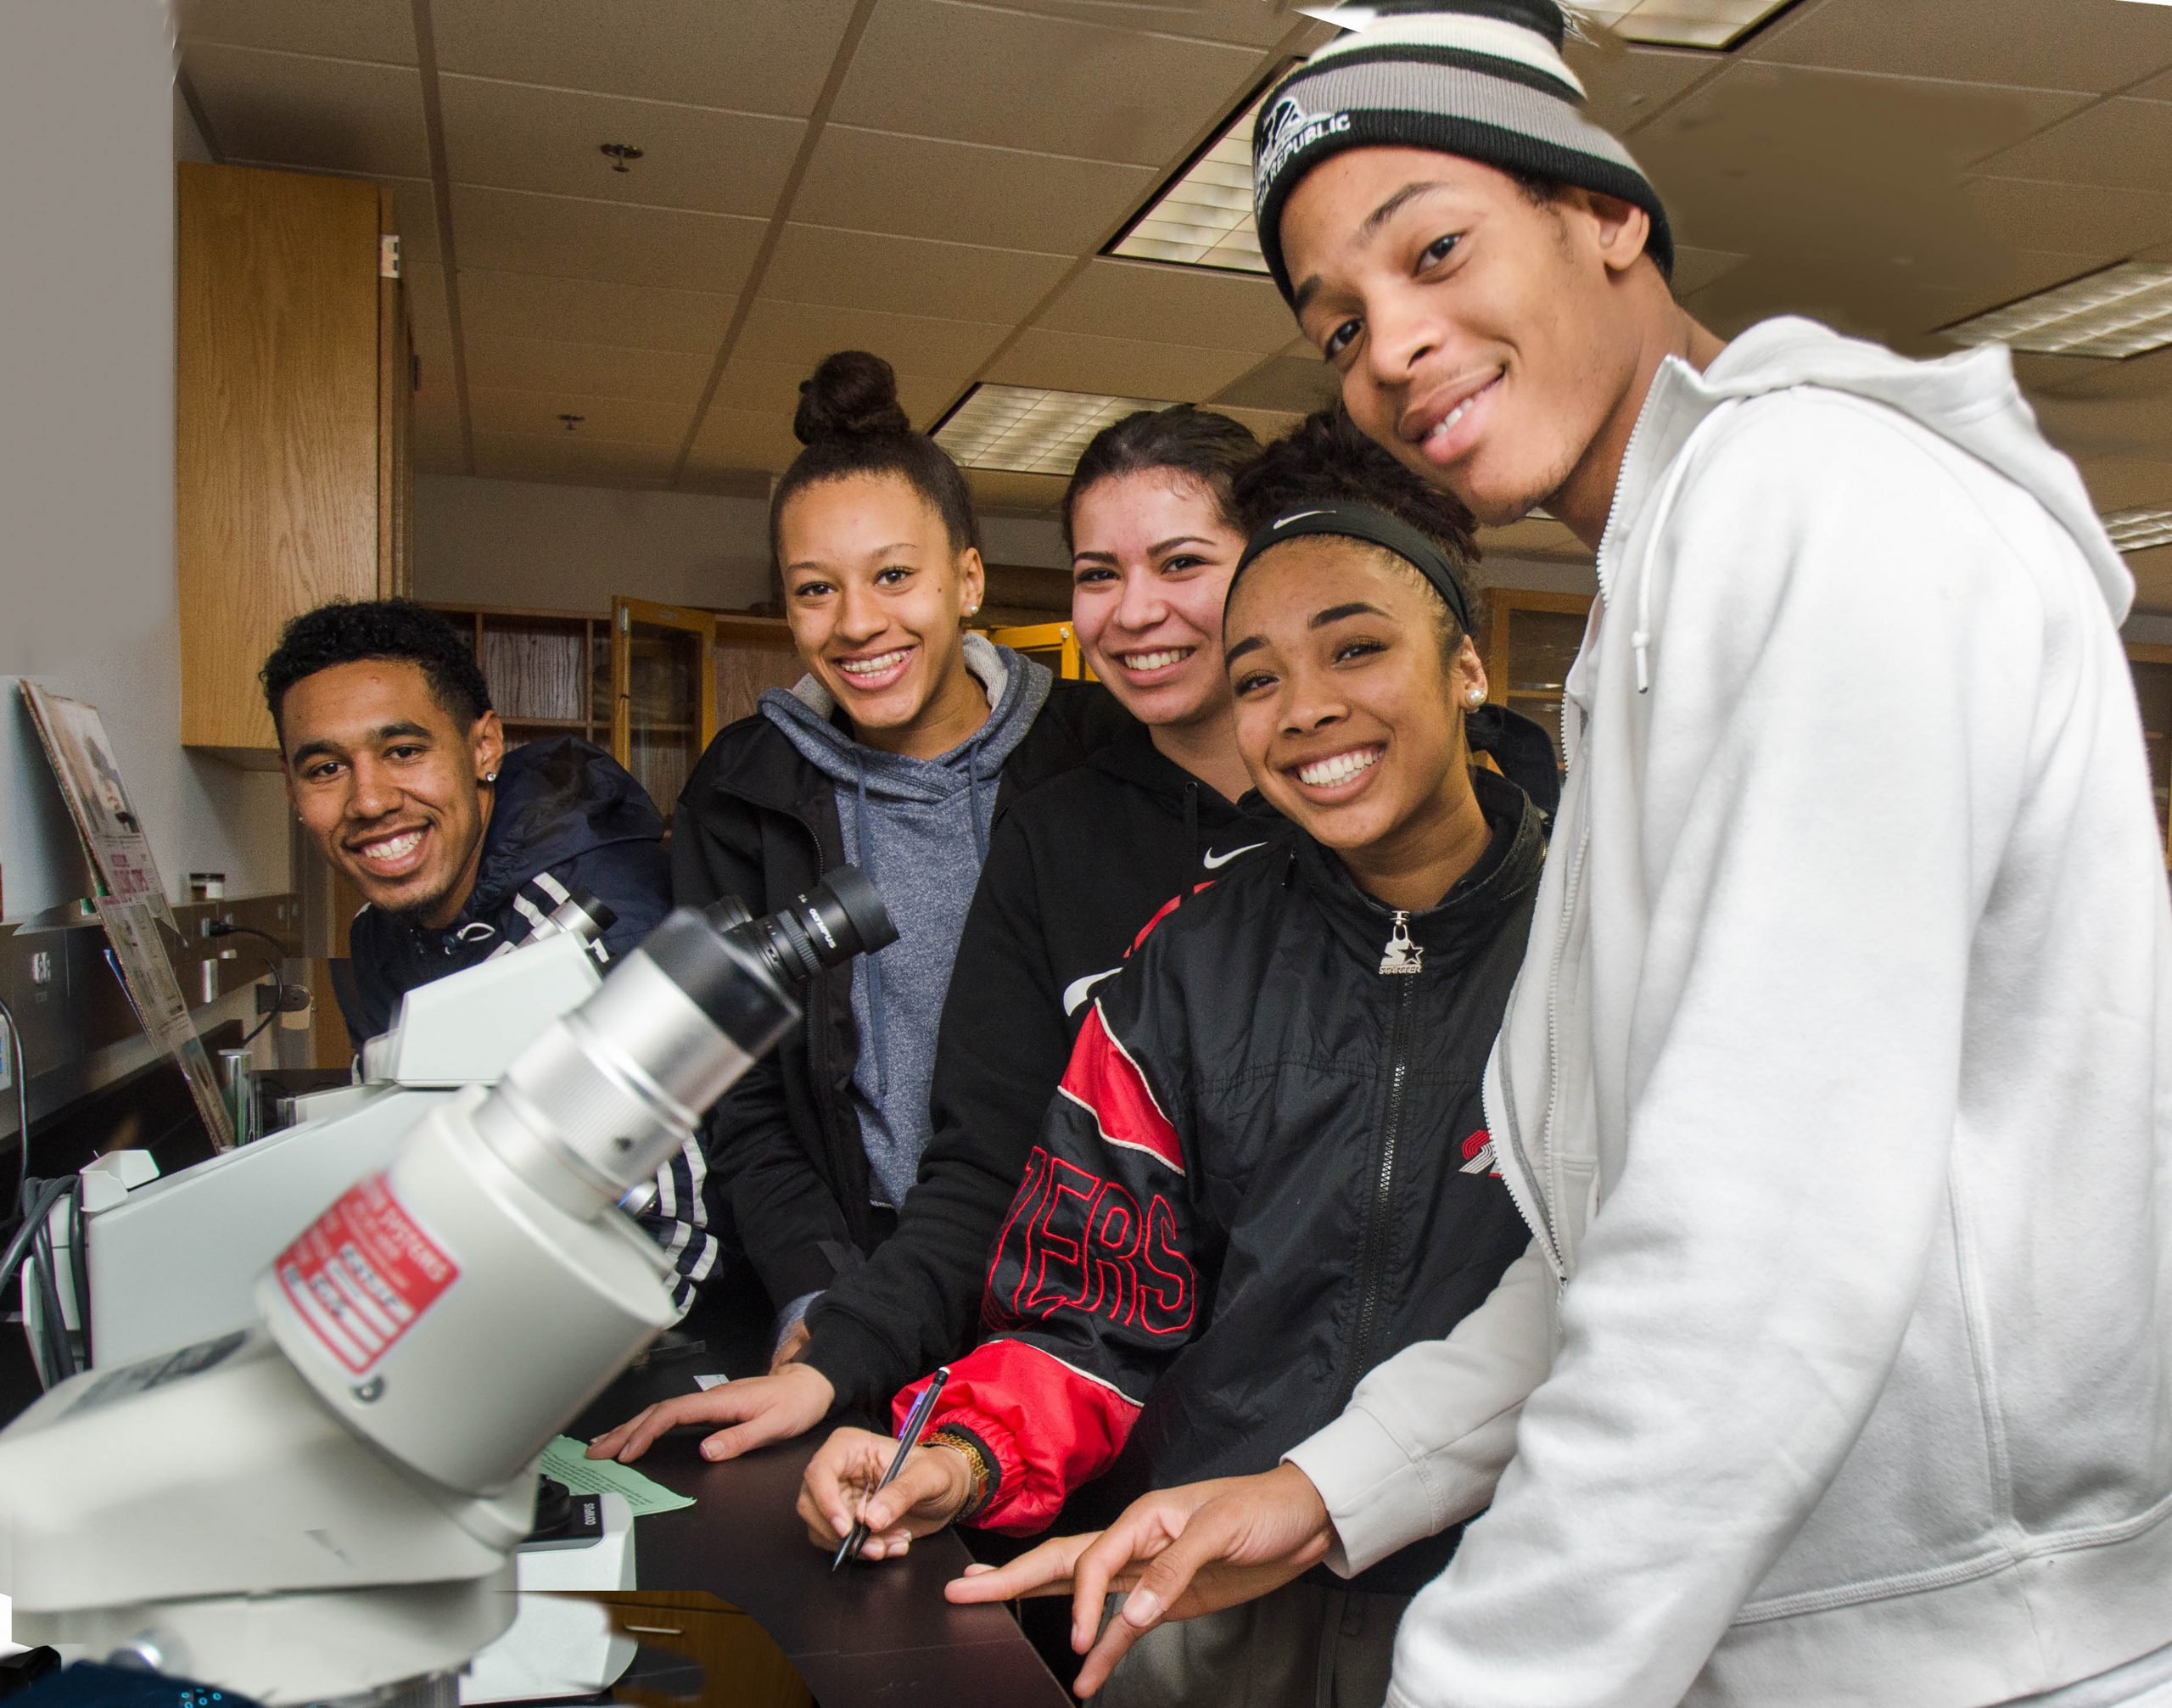
[(576, 734), (528, 741), (497, 767), (491, 828), (460, 921), (487, 919), (539, 871), (606, 843), (660, 843), (665, 821), (634, 776)]

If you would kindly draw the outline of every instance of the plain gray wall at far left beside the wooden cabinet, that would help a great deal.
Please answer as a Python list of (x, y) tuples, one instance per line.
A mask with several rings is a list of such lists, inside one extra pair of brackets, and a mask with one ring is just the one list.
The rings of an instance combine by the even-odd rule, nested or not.
[(180, 750), (174, 156), (187, 130), (163, 4), (0, 4), (7, 917), (89, 887), (22, 676), (100, 708), (169, 891), (202, 869), (226, 871), (232, 895), (289, 882), (278, 778)]

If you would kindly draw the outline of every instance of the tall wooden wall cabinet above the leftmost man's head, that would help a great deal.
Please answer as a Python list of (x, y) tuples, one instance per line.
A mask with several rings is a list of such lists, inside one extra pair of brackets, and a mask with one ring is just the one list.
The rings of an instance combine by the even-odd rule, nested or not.
[(391, 193), (178, 167), (180, 739), (276, 765), (256, 671), (280, 626), (408, 585), (413, 356), (380, 276)]

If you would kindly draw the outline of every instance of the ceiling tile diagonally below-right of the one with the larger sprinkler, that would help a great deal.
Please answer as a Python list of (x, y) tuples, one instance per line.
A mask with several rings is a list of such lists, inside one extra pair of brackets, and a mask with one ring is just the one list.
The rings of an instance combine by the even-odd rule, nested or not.
[(1073, 267), (1066, 254), (786, 226), (762, 296), (834, 309), (1019, 322)]

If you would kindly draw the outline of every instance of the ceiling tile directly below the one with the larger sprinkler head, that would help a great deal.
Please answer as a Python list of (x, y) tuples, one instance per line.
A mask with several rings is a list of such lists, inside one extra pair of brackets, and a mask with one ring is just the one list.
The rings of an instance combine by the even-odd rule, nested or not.
[(615, 278), (736, 296), (767, 222), (723, 213), (628, 209), (517, 189), (452, 191), (463, 267)]

